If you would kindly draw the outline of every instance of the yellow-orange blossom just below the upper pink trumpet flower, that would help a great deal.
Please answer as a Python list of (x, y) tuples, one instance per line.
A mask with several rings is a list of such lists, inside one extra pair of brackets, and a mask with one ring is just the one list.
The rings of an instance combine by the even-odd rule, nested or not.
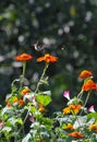
[(80, 104), (71, 104), (69, 107), (63, 109), (63, 114), (70, 114), (70, 113), (74, 113), (77, 114), (81, 109), (82, 105)]

